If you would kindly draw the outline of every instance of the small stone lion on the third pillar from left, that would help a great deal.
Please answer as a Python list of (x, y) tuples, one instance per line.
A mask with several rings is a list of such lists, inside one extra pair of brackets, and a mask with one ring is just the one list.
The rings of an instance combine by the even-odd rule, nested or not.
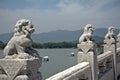
[(105, 35), (105, 40), (104, 40), (105, 43), (108, 43), (109, 40), (111, 40), (112, 42), (115, 42), (114, 32), (115, 32), (115, 28), (113, 26), (110, 26), (108, 28), (107, 34)]

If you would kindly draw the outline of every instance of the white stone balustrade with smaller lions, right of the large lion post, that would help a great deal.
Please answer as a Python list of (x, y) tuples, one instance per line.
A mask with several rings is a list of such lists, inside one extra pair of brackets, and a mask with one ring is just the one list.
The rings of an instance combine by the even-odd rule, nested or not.
[(115, 28), (109, 27), (104, 40), (104, 52), (96, 56), (96, 44), (91, 39), (91, 28), (93, 28), (92, 25), (86, 25), (79, 39), (80, 42), (77, 45), (78, 64), (46, 80), (120, 79), (120, 33), (116, 40), (114, 37)]

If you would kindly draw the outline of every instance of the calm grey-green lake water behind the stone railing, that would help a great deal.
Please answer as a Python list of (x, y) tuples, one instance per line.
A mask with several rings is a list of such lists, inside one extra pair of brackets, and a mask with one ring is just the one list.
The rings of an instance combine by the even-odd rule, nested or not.
[[(50, 76), (77, 64), (77, 49), (36, 49), (41, 57), (49, 56), (49, 62), (42, 62), (40, 72), (45, 80)], [(74, 52), (75, 56), (70, 53)], [(3, 52), (0, 50), (0, 58)]]

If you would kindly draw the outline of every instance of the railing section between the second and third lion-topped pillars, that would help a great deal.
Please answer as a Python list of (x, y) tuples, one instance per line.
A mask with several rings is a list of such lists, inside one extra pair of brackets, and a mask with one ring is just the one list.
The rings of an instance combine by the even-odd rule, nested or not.
[[(103, 54), (97, 56), (97, 60), (98, 60), (98, 79), (101, 80), (102, 77), (105, 78), (105, 74), (107, 74), (110, 70), (113, 69), (112, 61), (113, 54), (111, 51), (104, 52)], [(111, 79), (113, 79), (113, 76), (111, 77)]]

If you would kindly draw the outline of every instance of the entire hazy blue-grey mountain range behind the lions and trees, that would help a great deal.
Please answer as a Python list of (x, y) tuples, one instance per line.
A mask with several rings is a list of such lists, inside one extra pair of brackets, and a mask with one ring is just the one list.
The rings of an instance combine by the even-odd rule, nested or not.
[[(115, 35), (117, 35), (119, 30), (116, 30)], [(68, 31), (68, 30), (56, 30), (46, 33), (33, 34), (32, 39), (34, 42), (62, 42), (62, 41), (76, 41), (79, 39), (80, 35), (83, 33), (82, 30)], [(107, 33), (106, 28), (98, 28), (94, 31), (95, 42), (102, 42), (105, 34)], [(12, 33), (0, 34), (0, 41), (8, 42), (12, 37)]]

